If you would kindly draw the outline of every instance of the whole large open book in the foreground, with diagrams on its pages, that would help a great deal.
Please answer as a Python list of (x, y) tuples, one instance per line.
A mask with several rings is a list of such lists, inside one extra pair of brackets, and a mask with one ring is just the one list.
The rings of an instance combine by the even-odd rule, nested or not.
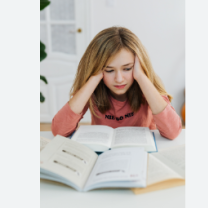
[(40, 152), (40, 177), (78, 191), (111, 187), (146, 187), (147, 152), (119, 148), (97, 155), (90, 148), (57, 135)]

